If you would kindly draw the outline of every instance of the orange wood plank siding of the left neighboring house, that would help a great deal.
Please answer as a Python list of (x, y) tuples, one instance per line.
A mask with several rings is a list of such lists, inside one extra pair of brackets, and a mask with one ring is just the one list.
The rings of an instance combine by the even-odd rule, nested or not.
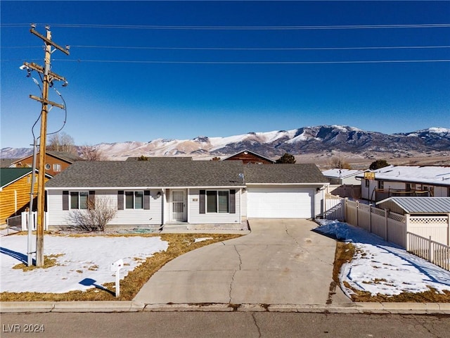
[[(34, 184), (34, 196), (37, 194), (37, 174)], [(31, 173), (20, 180), (4, 187), (0, 192), (0, 224), (6, 223), (6, 218), (15, 216), (30, 204)], [(46, 182), (49, 180), (45, 178)]]

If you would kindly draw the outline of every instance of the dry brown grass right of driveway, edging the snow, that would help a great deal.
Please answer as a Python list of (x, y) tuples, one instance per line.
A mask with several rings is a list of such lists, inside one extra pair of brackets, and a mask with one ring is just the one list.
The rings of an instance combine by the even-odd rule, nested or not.
[[(351, 243), (337, 242), (335, 262), (333, 268), (333, 280), (340, 284), (339, 273), (344, 263), (352, 261), (355, 253), (355, 248)], [(374, 280), (373, 283), (383, 282), (383, 280)], [(436, 289), (430, 288), (426, 292), (402, 292), (396, 296), (387, 296), (385, 294), (376, 294), (372, 296), (370, 292), (354, 289), (347, 282), (344, 286), (351, 289), (354, 294), (352, 301), (357, 302), (399, 302), (399, 303), (450, 303), (450, 292), (438, 292)]]

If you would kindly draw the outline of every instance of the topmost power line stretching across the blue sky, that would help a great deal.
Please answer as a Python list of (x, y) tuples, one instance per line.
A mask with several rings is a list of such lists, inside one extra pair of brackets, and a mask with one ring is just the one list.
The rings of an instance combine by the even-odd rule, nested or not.
[[(69, 28), (115, 28), (135, 30), (361, 30), (361, 29), (389, 29), (389, 28), (442, 28), (450, 27), (450, 23), (426, 23), (410, 25), (305, 25), (305, 26), (197, 26), (197, 25), (98, 25), (53, 23), (53, 27)], [(0, 27), (28, 27), (30, 23), (2, 23)]]

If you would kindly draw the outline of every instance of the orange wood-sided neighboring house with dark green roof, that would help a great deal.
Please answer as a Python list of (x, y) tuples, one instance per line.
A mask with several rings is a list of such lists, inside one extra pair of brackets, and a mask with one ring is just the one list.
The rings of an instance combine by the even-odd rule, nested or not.
[[(34, 194), (37, 194), (37, 174)], [(46, 180), (50, 176), (46, 175)], [(31, 168), (0, 168), (0, 224), (30, 205)], [(36, 204), (34, 204), (36, 205)]]

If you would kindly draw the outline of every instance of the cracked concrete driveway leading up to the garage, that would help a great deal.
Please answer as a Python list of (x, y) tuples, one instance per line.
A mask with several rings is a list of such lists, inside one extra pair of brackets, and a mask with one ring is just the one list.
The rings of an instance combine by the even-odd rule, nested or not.
[(203, 246), (162, 267), (134, 301), (149, 304), (337, 304), (335, 240), (310, 220), (250, 220), (252, 232)]

